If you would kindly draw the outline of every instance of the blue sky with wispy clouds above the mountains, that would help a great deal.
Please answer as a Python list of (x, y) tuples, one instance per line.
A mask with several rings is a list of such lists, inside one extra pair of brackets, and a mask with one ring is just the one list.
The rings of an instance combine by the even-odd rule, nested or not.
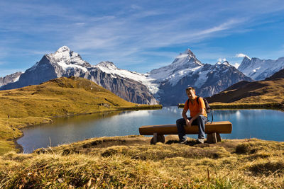
[(284, 1), (0, 0), (0, 76), (67, 45), (146, 73), (190, 48), (202, 63), (284, 57)]

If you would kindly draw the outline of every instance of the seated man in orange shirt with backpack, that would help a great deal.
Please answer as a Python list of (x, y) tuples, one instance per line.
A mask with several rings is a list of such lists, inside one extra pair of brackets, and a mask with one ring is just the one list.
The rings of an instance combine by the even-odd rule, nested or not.
[[(180, 144), (187, 144), (187, 137), (185, 136), (185, 127), (191, 125), (198, 125), (198, 139), (197, 143), (204, 143), (205, 124), (207, 122), (207, 113), (203, 98), (198, 98), (195, 94), (195, 88), (186, 88), (188, 100), (185, 102), (185, 107), (182, 110), (182, 118), (177, 120), (178, 137)], [(187, 118), (187, 110), (190, 110), (190, 118)]]

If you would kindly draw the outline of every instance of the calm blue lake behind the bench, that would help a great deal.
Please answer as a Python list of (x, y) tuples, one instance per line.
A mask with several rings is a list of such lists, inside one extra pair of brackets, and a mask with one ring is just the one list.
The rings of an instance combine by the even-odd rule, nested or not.
[[(24, 153), (41, 147), (69, 144), (92, 137), (111, 137), (139, 134), (142, 125), (173, 124), (181, 117), (182, 109), (164, 107), (160, 110), (121, 111), (58, 118), (52, 124), (23, 129), (17, 140)], [(189, 115), (189, 113), (187, 113)], [(284, 141), (284, 112), (280, 110), (214, 110), (214, 121), (233, 123), (231, 134), (223, 139), (258, 138)], [(208, 116), (211, 119), (211, 115)], [(197, 134), (188, 135), (197, 138)]]

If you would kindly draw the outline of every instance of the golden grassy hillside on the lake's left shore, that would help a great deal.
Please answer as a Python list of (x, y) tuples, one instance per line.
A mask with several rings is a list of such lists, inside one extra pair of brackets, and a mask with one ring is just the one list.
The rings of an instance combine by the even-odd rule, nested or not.
[(52, 122), (53, 117), (160, 107), (129, 103), (92, 81), (74, 76), (0, 91), (0, 106), (0, 154), (13, 149), (11, 139), (21, 136), (19, 129)]

